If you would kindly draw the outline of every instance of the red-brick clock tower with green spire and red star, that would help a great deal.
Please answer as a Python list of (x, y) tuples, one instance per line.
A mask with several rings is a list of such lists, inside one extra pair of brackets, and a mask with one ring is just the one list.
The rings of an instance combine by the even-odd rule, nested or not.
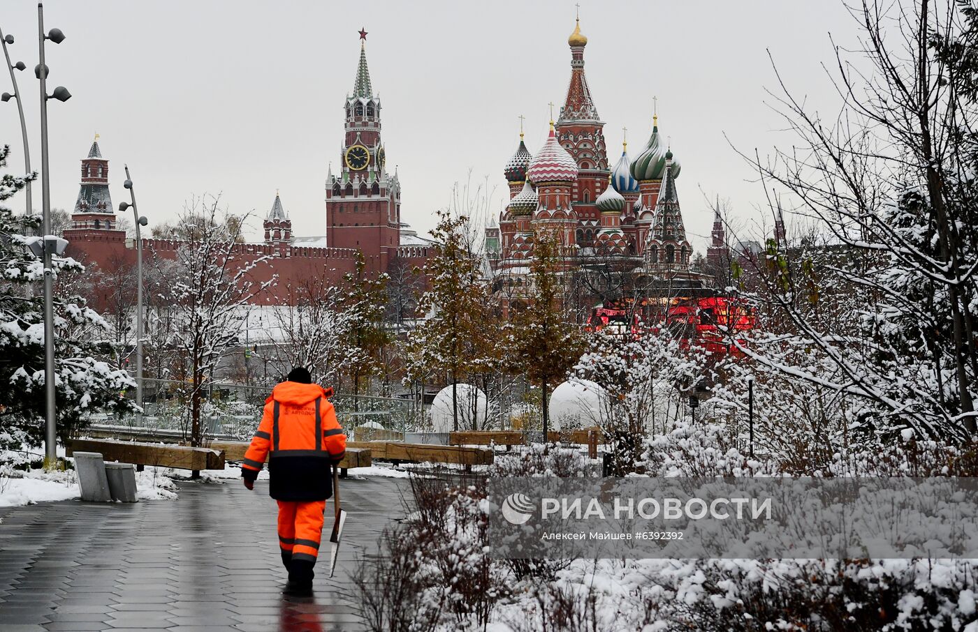
[(326, 178), (326, 243), (363, 252), (368, 271), (382, 273), (400, 246), (401, 187), (389, 175), (380, 140), (380, 99), (367, 67), (367, 31), (360, 30), (360, 63), (344, 103), (339, 173)]

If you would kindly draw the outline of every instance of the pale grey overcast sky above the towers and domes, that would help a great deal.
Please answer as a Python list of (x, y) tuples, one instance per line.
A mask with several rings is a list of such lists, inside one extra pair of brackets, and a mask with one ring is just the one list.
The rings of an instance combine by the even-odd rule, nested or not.
[[(18, 80), (39, 169), (38, 84), (29, 69), (36, 12), (35, 2), (4, 0), (0, 26), (17, 38), (12, 60), (28, 65)], [(293, 231), (324, 234), (327, 166), (337, 165), (364, 26), (402, 218), (426, 232), (469, 173), (476, 185), (489, 177), (492, 208), (502, 208), (518, 116), (536, 151), (547, 104), (563, 102), (574, 3), (49, 0), (45, 29), (53, 26), (67, 39), (47, 45), (49, 91), (64, 85), (72, 95), (49, 106), (53, 206), (73, 206), (79, 159), (98, 132), (114, 203), (127, 199), (128, 163), (151, 226), (203, 192), (220, 192), (232, 212), (262, 216), (279, 189)], [(712, 224), (700, 187), (729, 197), (740, 223), (758, 221), (764, 199), (724, 134), (762, 154), (791, 141), (764, 103), (765, 87), (776, 87), (766, 49), (798, 94), (832, 105), (820, 65), (832, 55), (827, 33), (847, 44), (857, 35), (836, 0), (581, 0), (581, 30), (612, 164), (623, 126), (632, 157), (645, 147), (657, 96), (660, 130), (683, 162), (677, 184), (689, 240), (700, 251)], [(0, 91), (9, 90), (0, 74)], [(0, 104), (0, 142), (13, 150), (8, 171), (22, 170), (14, 102)]]

